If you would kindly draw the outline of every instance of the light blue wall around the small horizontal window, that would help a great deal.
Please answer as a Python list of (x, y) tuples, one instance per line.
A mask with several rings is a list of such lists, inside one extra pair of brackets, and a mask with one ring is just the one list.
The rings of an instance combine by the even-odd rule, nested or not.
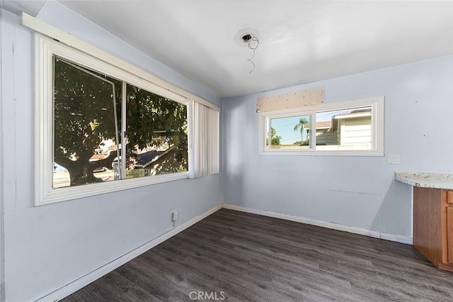
[[(258, 155), (256, 98), (222, 101), (224, 202), (257, 210), (412, 235), (411, 186), (394, 172), (453, 172), (453, 57), (323, 82), (326, 103), (385, 96), (386, 157)], [(275, 93), (277, 91), (271, 91)]]

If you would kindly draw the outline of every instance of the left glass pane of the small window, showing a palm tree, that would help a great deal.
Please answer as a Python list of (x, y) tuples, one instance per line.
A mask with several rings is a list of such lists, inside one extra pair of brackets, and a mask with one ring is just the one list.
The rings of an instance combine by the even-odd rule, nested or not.
[(267, 121), (266, 150), (310, 147), (309, 115), (268, 118)]

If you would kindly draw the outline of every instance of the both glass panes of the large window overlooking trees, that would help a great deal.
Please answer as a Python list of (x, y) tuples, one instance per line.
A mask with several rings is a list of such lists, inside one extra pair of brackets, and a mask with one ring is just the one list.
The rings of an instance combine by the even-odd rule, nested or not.
[[(187, 106), (54, 57), (52, 188), (188, 171)], [(124, 173), (122, 169), (125, 168)]]

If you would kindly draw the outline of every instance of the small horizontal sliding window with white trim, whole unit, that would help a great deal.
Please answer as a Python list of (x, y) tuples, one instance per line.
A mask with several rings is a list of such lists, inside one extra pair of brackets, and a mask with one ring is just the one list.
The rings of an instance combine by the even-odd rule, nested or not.
[(384, 99), (260, 113), (262, 154), (383, 155)]

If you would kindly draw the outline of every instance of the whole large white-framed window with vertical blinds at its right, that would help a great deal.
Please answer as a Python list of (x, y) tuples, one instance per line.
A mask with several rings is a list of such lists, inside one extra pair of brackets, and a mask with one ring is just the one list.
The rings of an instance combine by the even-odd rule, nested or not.
[(210, 156), (206, 173), (197, 173), (205, 162), (189, 164), (193, 124), (212, 128), (195, 135), (197, 148), (219, 140), (217, 120), (190, 114), (197, 102), (57, 41), (36, 42), (35, 204), (218, 173), (218, 150), (195, 150)]

